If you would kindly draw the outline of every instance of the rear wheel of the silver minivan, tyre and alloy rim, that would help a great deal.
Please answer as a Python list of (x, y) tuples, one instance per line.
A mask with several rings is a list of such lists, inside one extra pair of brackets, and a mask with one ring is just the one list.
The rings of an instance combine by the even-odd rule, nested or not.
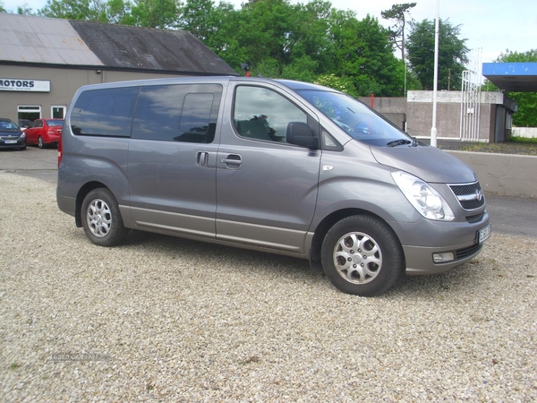
[(82, 227), (93, 244), (114, 246), (124, 241), (126, 229), (114, 195), (107, 188), (93, 189), (82, 201)]

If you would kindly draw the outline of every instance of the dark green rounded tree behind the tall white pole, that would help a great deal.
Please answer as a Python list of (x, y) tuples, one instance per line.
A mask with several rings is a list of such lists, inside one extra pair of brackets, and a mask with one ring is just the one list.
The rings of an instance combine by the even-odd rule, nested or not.
[[(460, 26), (439, 20), (439, 90), (459, 90), (468, 63), (466, 39), (459, 39)], [(424, 90), (434, 84), (435, 21), (423, 20), (413, 25), (406, 41), (408, 63)]]

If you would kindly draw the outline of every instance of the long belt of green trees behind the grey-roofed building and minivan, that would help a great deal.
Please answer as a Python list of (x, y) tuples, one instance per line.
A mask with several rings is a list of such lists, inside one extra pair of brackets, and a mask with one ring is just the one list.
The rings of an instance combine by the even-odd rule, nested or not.
[(248, 0), (238, 10), (214, 0), (47, 0), (40, 15), (192, 32), (241, 73), (332, 83), (358, 96), (402, 95), (404, 64), (388, 30), (329, 1)]

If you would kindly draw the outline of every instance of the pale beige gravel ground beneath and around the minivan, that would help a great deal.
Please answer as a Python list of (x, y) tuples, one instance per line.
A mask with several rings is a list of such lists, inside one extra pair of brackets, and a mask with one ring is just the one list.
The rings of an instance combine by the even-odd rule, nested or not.
[(90, 244), (0, 172), (0, 400), (537, 400), (537, 240), (348, 296), (305, 261), (133, 233)]

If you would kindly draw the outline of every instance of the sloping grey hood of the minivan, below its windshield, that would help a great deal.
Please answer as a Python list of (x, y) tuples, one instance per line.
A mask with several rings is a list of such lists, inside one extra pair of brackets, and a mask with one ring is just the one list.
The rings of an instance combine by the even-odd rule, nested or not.
[(401, 169), (425, 182), (465, 184), (477, 180), (471, 167), (436, 147), (371, 147), (371, 153), (379, 164)]

